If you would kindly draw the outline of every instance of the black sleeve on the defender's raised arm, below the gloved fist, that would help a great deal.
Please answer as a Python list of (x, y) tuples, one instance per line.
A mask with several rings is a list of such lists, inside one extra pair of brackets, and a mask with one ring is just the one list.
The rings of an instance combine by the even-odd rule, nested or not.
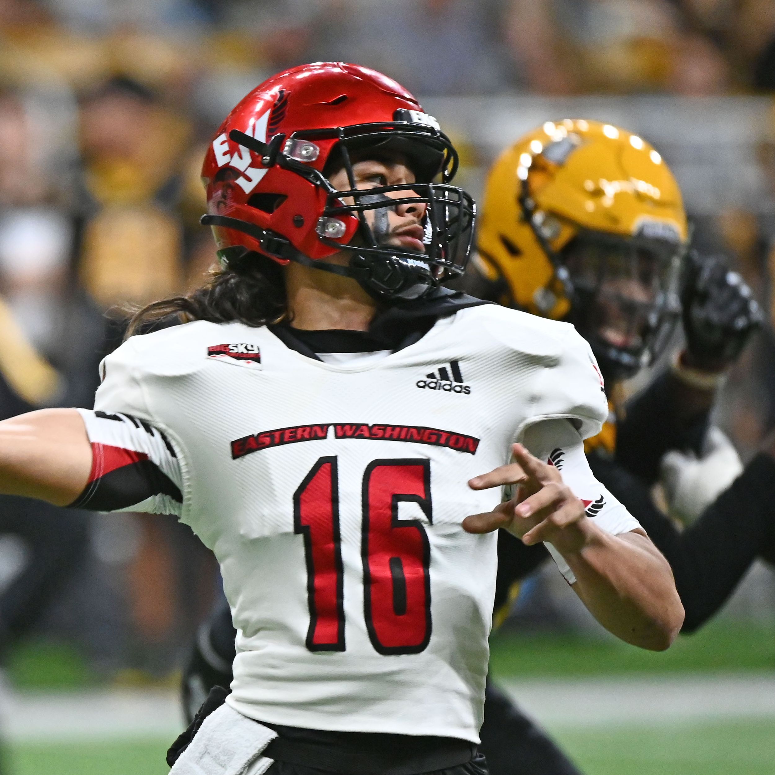
[[(616, 429), (616, 460), (631, 474), (653, 484), (660, 460), (669, 449), (700, 449), (710, 412), (682, 421), (677, 411), (675, 379), (664, 371), (627, 405)], [(625, 501), (626, 503), (626, 501)]]

